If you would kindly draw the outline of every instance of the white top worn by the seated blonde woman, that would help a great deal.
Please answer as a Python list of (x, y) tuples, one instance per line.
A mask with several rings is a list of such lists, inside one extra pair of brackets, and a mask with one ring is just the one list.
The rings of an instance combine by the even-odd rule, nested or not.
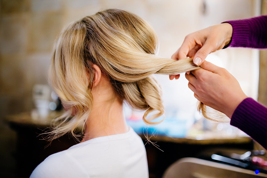
[(101, 136), (48, 156), (30, 178), (148, 178), (144, 143), (130, 127), (124, 134)]

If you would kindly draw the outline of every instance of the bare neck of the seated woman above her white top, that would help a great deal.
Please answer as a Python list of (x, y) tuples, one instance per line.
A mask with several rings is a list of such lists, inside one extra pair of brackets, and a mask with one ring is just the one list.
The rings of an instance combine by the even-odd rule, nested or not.
[(123, 116), (123, 105), (117, 99), (113, 101), (94, 100), (92, 112), (86, 122), (82, 142), (107, 135), (122, 134), (128, 131)]

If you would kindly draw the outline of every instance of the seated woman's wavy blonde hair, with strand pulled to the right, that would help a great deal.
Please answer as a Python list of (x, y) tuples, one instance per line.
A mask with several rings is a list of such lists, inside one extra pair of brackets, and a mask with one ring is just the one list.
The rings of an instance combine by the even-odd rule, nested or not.
[[(175, 61), (155, 55), (157, 36), (142, 18), (119, 9), (108, 9), (87, 16), (65, 28), (58, 37), (49, 69), (49, 82), (70, 109), (55, 118), (49, 140), (83, 125), (90, 115), (94, 81), (93, 64), (106, 74), (121, 101), (146, 110), (146, 124), (164, 114), (161, 89), (152, 74), (175, 75), (199, 69), (192, 59)], [(89, 77), (89, 79), (88, 79)], [(203, 106), (203, 105), (202, 105)], [(71, 116), (73, 110), (75, 116)], [(152, 111), (158, 113), (150, 115)]]

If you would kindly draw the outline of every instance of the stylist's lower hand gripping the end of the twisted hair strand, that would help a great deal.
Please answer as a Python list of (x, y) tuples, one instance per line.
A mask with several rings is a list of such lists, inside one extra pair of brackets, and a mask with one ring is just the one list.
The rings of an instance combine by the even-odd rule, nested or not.
[(231, 118), (236, 107), (247, 96), (226, 69), (207, 61), (200, 66), (202, 69), (185, 74), (189, 81), (188, 87), (199, 101)]

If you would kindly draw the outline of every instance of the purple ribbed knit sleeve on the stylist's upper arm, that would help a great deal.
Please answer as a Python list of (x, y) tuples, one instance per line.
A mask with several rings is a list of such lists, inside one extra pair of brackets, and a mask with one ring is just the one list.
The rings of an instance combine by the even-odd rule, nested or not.
[(243, 20), (231, 20), (233, 27), (231, 42), (226, 47), (267, 48), (267, 16)]

